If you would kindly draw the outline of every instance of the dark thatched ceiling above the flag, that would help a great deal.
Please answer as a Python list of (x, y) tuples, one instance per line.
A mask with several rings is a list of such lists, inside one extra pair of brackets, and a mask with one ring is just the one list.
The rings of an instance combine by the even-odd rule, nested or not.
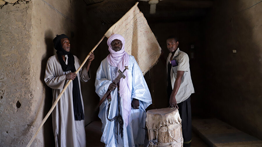
[[(104, 24), (117, 22), (137, 0), (84, 0), (94, 18)], [(207, 15), (213, 0), (162, 0), (156, 5), (156, 13), (149, 14), (147, 1), (138, 1), (138, 8), (148, 22), (174, 22), (198, 20)]]

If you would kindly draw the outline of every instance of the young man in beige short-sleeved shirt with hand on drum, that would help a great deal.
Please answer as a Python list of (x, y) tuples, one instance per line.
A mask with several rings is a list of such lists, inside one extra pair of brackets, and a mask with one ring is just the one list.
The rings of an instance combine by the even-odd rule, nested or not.
[(194, 93), (189, 69), (189, 58), (178, 48), (178, 39), (174, 36), (167, 38), (167, 95), (171, 107), (176, 107), (182, 119), (182, 134), (184, 147), (191, 145), (191, 104), (190, 95)]

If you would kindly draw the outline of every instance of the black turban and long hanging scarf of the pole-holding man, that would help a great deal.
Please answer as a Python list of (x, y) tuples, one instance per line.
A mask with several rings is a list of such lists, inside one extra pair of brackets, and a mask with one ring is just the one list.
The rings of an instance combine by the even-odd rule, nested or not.
[[(68, 38), (68, 37), (65, 34), (61, 34), (61, 35), (56, 35), (56, 37), (53, 40), (54, 48), (57, 50), (56, 54), (58, 56), (58, 60), (64, 72), (67, 72), (69, 70), (71, 70), (71, 72), (75, 72), (76, 71), (75, 58), (73, 54), (65, 51), (62, 48), (61, 39), (63, 38)], [(63, 60), (62, 55), (68, 55), (68, 65), (65, 64), (65, 61)], [(84, 117), (84, 112), (83, 112), (83, 107), (82, 107), (78, 77), (75, 77), (72, 83), (73, 83), (72, 94), (73, 94), (73, 108), (74, 108), (75, 121), (81, 121), (81, 120), (84, 120), (85, 117)]]

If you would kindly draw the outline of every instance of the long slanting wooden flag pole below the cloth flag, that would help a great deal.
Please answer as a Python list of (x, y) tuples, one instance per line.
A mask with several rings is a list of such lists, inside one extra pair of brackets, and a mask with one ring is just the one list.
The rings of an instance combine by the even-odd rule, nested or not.
[[(102, 42), (102, 40), (105, 38), (105, 35), (101, 38), (101, 40), (95, 45), (95, 47), (91, 50), (91, 52), (93, 52), (96, 47)], [(89, 58), (91, 52), (89, 52), (89, 54), (86, 56), (86, 59), (84, 60), (84, 62), (80, 65), (80, 67), (75, 71), (75, 73), (77, 74), (79, 72), (79, 70), (84, 66), (84, 64), (86, 63), (87, 59)], [(54, 104), (52, 105), (51, 109), (48, 111), (47, 115), (45, 116), (45, 118), (43, 119), (43, 121), (41, 122), (41, 124), (39, 125), (36, 133), (34, 134), (34, 136), (31, 138), (31, 140), (29, 141), (29, 143), (27, 144), (26, 147), (30, 147), (31, 144), (33, 143), (33, 140), (36, 138), (37, 133), (39, 132), (39, 130), (41, 129), (41, 127), (44, 125), (45, 121), (47, 120), (47, 118), (49, 117), (49, 115), (51, 114), (51, 112), (54, 110), (54, 107), (56, 107), (57, 102), (60, 100), (61, 96), (63, 95), (63, 93), (65, 92), (65, 89), (68, 87), (68, 85), (70, 84), (72, 80), (69, 80), (67, 82), (67, 84), (65, 85), (65, 88), (63, 88), (63, 90), (61, 91), (61, 93), (58, 95), (58, 97), (56, 98), (56, 101), (54, 102)]]

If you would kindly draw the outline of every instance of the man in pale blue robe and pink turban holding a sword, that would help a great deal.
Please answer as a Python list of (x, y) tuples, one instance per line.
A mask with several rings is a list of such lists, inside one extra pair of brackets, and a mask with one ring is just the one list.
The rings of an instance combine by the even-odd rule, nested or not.
[[(151, 95), (134, 56), (128, 55), (124, 50), (125, 39), (121, 35), (114, 34), (108, 38), (107, 45), (110, 54), (101, 62), (95, 79), (95, 92), (100, 99), (108, 90), (112, 90), (107, 97), (109, 101), (111, 99), (110, 108), (109, 101), (105, 100), (98, 114), (102, 121), (101, 142), (108, 147), (138, 147), (144, 143), (145, 109), (152, 104)], [(112, 81), (118, 76), (118, 69), (123, 71), (124, 66), (128, 66), (128, 70), (124, 72), (126, 78), (120, 80), (118, 87)], [(120, 104), (118, 104), (118, 95), (120, 95)], [(119, 125), (115, 125), (116, 120), (107, 119), (107, 111), (109, 119), (118, 116), (118, 113), (122, 116), (123, 138), (120, 135)]]

